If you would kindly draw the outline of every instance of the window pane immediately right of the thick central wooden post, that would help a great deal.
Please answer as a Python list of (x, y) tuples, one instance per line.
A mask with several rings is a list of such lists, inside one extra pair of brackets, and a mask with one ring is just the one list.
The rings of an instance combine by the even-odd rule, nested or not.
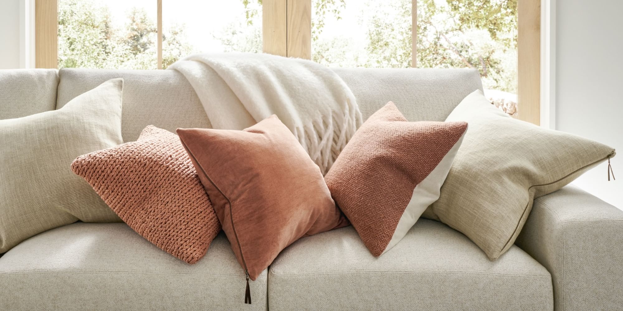
[(411, 0), (312, 0), (312, 60), (411, 67)]

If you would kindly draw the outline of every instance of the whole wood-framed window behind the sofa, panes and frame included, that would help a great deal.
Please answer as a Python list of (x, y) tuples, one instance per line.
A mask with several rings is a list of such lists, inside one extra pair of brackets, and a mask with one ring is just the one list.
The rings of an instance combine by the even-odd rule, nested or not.
[(475, 68), (496, 106), (538, 124), (540, 2), (36, 0), (36, 64), (166, 68), (242, 51), (329, 67)]

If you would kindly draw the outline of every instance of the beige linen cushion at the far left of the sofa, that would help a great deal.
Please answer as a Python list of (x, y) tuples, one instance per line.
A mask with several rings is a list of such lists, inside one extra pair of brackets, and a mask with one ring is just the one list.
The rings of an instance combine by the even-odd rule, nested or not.
[(77, 220), (120, 221), (70, 165), (123, 142), (122, 90), (113, 79), (59, 110), (0, 120), (0, 253)]

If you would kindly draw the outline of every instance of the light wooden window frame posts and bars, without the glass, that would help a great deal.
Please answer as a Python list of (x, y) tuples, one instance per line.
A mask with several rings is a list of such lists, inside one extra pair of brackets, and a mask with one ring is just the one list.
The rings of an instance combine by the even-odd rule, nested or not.
[[(156, 0), (158, 69), (162, 68), (162, 0)], [(518, 1), (518, 118), (541, 119), (541, 0)], [(412, 0), (417, 12), (417, 0)], [(36, 0), (36, 68), (58, 67), (58, 0)], [(412, 66), (417, 67), (417, 14), (412, 14)], [(262, 49), (286, 57), (312, 58), (312, 0), (262, 1)]]

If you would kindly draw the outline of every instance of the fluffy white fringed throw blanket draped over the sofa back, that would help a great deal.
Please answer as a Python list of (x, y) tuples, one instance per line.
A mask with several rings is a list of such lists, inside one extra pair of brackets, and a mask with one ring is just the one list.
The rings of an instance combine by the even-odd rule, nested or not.
[(329, 68), (261, 53), (197, 54), (169, 68), (193, 86), (215, 129), (245, 129), (272, 114), (326, 174), (362, 123), (353, 92)]

